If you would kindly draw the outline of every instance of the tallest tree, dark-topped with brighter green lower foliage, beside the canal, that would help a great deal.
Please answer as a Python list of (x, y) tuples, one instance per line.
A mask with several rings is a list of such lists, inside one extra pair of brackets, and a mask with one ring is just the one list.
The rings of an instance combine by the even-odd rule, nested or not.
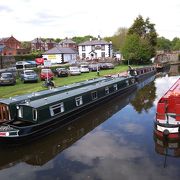
[[(137, 42), (135, 42), (136, 40)], [(122, 48), (123, 57), (136, 64), (149, 63), (150, 59), (156, 54), (156, 44), (157, 33), (154, 24), (150, 23), (149, 18), (144, 20), (139, 15), (127, 33), (125, 44)]]

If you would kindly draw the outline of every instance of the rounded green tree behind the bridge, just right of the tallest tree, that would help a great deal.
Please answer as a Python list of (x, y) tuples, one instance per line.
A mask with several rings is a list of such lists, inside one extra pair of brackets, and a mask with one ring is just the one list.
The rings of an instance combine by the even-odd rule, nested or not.
[(170, 51), (172, 48), (172, 43), (169, 39), (164, 37), (157, 38), (157, 50)]

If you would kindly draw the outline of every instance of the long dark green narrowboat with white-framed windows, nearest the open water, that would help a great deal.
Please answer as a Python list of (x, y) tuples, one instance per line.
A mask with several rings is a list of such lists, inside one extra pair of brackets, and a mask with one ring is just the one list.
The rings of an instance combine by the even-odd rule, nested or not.
[[(16, 104), (16, 118), (5, 121), (0, 126), (0, 143), (26, 141), (49, 134), (60, 127), (63, 120), (72, 119), (112, 96), (137, 88), (133, 76), (100, 78), (94, 83), (84, 84), (86, 85), (37, 99), (29, 98)], [(7, 113), (10, 108), (8, 104), (2, 106), (1, 116), (10, 116)]]

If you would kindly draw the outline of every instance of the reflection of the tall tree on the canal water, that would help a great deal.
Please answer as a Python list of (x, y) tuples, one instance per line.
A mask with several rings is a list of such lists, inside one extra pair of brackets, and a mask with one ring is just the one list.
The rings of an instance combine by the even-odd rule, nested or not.
[(142, 113), (143, 110), (148, 110), (153, 106), (153, 102), (156, 98), (156, 87), (154, 82), (146, 85), (140, 89), (135, 98), (131, 101), (132, 106), (138, 113)]

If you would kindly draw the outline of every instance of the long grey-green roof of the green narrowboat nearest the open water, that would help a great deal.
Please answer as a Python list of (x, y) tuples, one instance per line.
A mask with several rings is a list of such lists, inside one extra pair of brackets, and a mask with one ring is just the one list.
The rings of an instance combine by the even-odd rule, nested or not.
[(62, 92), (53, 96), (49, 96), (46, 98), (41, 98), (38, 100), (34, 101), (28, 101), (27, 103), (21, 104), (25, 106), (29, 106), (32, 108), (39, 108), (42, 106), (46, 106), (47, 104), (52, 104), (56, 103), (59, 101), (63, 101), (64, 99), (74, 97), (74, 96), (81, 96), (82, 94), (88, 92), (88, 91), (95, 91), (96, 89), (104, 86), (109, 86), (114, 83), (118, 83), (119, 81), (129, 79), (130, 77), (116, 77), (116, 78), (106, 78), (104, 81), (97, 82), (96, 84), (90, 84), (85, 87), (77, 88), (77, 89), (72, 89), (66, 92)]

